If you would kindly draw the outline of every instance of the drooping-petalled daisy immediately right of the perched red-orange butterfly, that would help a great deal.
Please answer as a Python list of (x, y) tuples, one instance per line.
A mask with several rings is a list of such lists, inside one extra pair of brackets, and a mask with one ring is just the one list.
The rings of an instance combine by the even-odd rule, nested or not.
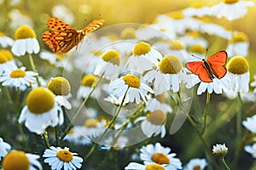
[(231, 90), (235, 92), (248, 92), (250, 82), (249, 64), (241, 56), (231, 58), (227, 64), (227, 75), (230, 79)]

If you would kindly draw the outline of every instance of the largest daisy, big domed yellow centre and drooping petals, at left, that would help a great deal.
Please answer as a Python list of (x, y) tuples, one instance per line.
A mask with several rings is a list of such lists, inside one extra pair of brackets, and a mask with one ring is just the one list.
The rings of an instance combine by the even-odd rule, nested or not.
[(55, 102), (54, 94), (47, 88), (34, 88), (26, 96), (26, 106), (20, 113), (19, 122), (25, 122), (32, 133), (42, 134), (49, 126), (61, 125), (63, 119), (63, 112)]

